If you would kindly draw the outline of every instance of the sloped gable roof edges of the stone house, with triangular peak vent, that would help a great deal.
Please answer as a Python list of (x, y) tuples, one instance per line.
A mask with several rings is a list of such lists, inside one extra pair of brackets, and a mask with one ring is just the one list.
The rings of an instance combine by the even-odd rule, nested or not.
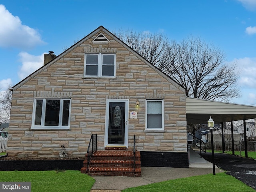
[[(114, 40), (116, 40), (117, 42), (119, 42), (122, 46), (124, 46), (127, 50), (129, 50), (130, 52), (132, 52), (132, 54), (134, 54), (135, 56), (137, 56), (142, 62), (144, 62), (145, 64), (147, 64), (148, 66), (150, 66), (150, 68), (152, 68), (155, 72), (157, 72), (158, 74), (160, 74), (160, 76), (162, 76), (163, 78), (165, 78), (168, 82), (170, 82), (171, 84), (173, 84), (173, 86), (175, 86), (175, 88), (177, 90), (181, 90), (182, 92), (186, 92), (185, 88), (182, 87), (182, 85), (176, 81), (174, 81), (172, 78), (170, 78), (169, 76), (167, 76), (164, 72), (162, 72), (161, 70), (159, 70), (156, 66), (154, 66), (153, 64), (151, 64), (150, 62), (148, 62), (148, 60), (146, 60), (144, 57), (142, 57), (140, 54), (138, 54), (138, 52), (134, 51), (132, 48), (130, 48), (127, 44), (125, 44), (122, 40), (120, 40), (118, 37), (116, 37), (114, 34), (112, 34), (110, 31), (108, 31), (106, 28), (104, 28), (103, 26), (99, 26), (96, 30), (94, 30), (93, 32), (91, 32), (90, 34), (88, 34), (87, 36), (85, 36), (84, 38), (82, 38), (80, 41), (78, 41), (76, 44), (74, 44), (73, 46), (71, 46), (70, 48), (68, 48), (67, 50), (65, 50), (64, 52), (62, 52), (61, 54), (59, 54), (56, 58), (54, 58), (53, 60), (51, 60), (50, 62), (48, 62), (47, 64), (45, 64), (44, 66), (42, 66), (41, 68), (39, 68), (38, 70), (36, 70), (35, 72), (33, 72), (32, 74), (30, 74), (28, 77), (24, 78), (22, 81), (18, 82), (16, 85), (13, 86), (13, 89), (17, 89), (20, 86), (22, 86), (23, 84), (25, 84), (26, 82), (28, 82), (30, 79), (34, 78), (37, 74), (39, 74), (40, 72), (42, 72), (43, 70), (45, 70), (46, 68), (48, 68), (49, 66), (51, 66), (52, 64), (54, 64), (55, 62), (57, 62), (58, 60), (60, 60), (62, 57), (64, 57), (65, 55), (67, 55), (68, 53), (72, 52), (72, 50), (74, 50), (75, 48), (77, 48), (78, 46), (80, 46), (81, 44), (83, 44), (83, 42), (85, 42), (86, 40), (89, 40), (90, 38), (92, 38), (92, 36), (96, 35), (99, 32), (104, 32), (105, 34), (108, 34), (108, 36), (111, 36)], [(97, 38), (100, 37), (101, 40), (105, 41), (108, 40), (104, 34), (103, 36), (101, 36), (102, 33), (100, 33), (96, 38), (94, 38), (94, 40), (97, 41)], [(104, 37), (106, 39), (104, 39)], [(100, 40), (98, 39), (98, 40)], [(174, 88), (174, 87), (173, 87)], [(174, 89), (175, 89), (174, 88)]]

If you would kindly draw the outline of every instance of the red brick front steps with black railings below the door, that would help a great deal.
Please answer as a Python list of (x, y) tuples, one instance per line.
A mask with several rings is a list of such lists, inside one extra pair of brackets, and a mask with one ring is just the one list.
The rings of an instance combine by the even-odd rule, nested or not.
[(132, 151), (124, 150), (106, 150), (94, 152), (89, 168), (87, 169), (87, 154), (84, 160), (84, 167), (81, 173), (90, 176), (129, 176), (140, 177), (140, 152), (135, 152), (135, 170), (134, 156)]

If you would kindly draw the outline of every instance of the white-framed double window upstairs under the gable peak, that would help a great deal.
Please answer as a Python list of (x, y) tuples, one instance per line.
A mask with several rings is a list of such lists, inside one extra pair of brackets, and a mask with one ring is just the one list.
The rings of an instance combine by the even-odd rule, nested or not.
[(116, 54), (85, 54), (84, 77), (115, 77)]

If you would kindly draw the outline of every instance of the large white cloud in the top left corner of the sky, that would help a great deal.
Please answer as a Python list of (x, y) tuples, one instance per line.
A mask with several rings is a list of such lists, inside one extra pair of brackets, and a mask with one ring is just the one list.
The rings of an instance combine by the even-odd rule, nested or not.
[(44, 44), (35, 29), (23, 25), (20, 18), (13, 16), (2, 4), (0, 18), (0, 47), (32, 48)]

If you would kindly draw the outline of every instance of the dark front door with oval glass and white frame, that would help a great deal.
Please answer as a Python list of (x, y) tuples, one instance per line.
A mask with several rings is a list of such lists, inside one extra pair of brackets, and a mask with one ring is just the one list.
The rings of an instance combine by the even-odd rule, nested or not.
[(107, 100), (105, 146), (128, 147), (128, 100)]

